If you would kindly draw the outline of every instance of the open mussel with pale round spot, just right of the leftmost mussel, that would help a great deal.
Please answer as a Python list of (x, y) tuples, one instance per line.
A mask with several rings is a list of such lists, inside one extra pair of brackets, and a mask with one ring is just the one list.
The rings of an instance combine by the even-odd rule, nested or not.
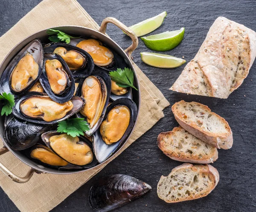
[(44, 69), (39, 80), (47, 95), (55, 102), (67, 102), (74, 94), (75, 80), (67, 63), (58, 54), (44, 54)]

